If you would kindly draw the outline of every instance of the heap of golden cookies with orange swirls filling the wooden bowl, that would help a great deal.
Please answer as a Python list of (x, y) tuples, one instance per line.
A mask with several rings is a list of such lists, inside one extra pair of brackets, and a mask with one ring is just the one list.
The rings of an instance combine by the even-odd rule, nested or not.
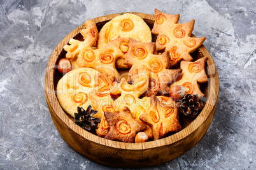
[[(72, 70), (57, 85), (63, 110), (75, 117), (78, 107), (92, 106), (101, 119), (97, 135), (115, 141), (157, 140), (180, 131), (177, 101), (185, 94), (203, 97), (198, 82), (208, 76), (207, 58), (193, 61), (190, 55), (206, 38), (190, 37), (194, 20), (179, 24), (179, 17), (155, 10), (150, 30), (142, 18), (126, 13), (100, 32), (87, 20), (83, 41), (72, 38), (64, 46)], [(122, 69), (128, 73), (120, 74)]]

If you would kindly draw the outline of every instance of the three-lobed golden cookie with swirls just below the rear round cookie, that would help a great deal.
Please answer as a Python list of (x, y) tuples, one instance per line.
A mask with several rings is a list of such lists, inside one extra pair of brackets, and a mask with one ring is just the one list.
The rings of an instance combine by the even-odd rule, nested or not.
[(124, 57), (129, 48), (128, 43), (129, 40), (126, 38), (117, 38), (98, 49), (84, 48), (78, 54), (78, 66), (94, 68), (112, 81), (119, 81), (120, 74), (115, 62), (118, 58)]

